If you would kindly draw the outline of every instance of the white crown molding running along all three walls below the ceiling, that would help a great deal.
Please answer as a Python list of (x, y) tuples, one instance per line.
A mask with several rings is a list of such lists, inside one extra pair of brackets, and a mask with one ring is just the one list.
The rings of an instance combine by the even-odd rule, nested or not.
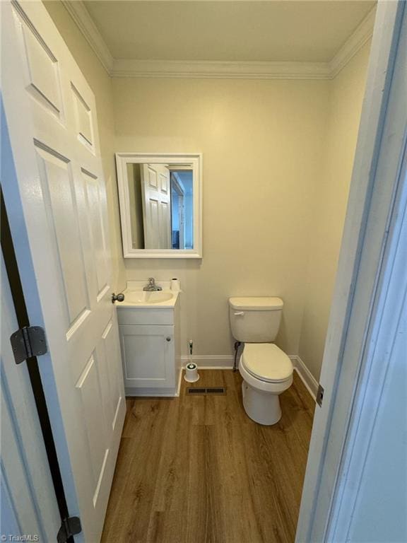
[(376, 8), (331, 62), (223, 62), (114, 59), (82, 0), (61, 0), (110, 77), (208, 79), (333, 79), (372, 37)]

